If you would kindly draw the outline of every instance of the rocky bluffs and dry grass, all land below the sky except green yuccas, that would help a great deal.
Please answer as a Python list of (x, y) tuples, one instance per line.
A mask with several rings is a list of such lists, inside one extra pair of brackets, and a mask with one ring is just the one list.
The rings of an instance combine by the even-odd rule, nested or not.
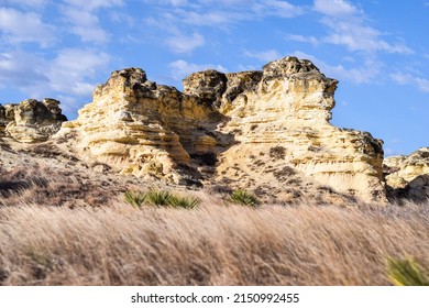
[(384, 160), (333, 127), (337, 85), (286, 57), (183, 92), (117, 70), (73, 121), (54, 99), (0, 106), (0, 285), (385, 285), (388, 257), (428, 265), (427, 148)]

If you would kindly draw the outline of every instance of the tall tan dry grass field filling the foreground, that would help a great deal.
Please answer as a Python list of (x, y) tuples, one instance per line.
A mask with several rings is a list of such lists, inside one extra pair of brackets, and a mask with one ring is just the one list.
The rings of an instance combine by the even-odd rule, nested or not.
[(0, 208), (2, 285), (388, 285), (429, 262), (429, 207)]

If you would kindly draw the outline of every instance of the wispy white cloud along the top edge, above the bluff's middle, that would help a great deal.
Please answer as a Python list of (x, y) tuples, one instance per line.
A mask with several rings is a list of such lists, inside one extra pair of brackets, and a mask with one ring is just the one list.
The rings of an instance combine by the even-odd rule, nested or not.
[[(154, 14), (145, 19), (146, 25), (163, 30), (164, 37), (156, 40), (164, 40), (165, 45), (176, 53), (188, 53), (202, 46), (202, 28), (228, 32), (242, 22), (272, 16), (294, 18), (304, 12), (301, 7), (280, 0), (143, 1), (156, 6)], [(189, 32), (194, 33), (190, 37), (183, 34)]]

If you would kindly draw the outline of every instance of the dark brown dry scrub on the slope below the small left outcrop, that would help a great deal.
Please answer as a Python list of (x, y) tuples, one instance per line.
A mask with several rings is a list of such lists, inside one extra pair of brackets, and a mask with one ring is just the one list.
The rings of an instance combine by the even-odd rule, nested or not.
[(73, 168), (20, 166), (7, 170), (0, 165), (0, 206), (103, 206), (127, 190), (110, 178), (89, 176)]

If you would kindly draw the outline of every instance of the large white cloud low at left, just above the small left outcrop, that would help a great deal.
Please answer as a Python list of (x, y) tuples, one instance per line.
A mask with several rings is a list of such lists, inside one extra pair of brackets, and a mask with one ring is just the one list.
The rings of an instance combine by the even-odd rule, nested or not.
[(0, 54), (0, 87), (20, 89), (33, 98), (88, 97), (98, 70), (106, 70), (109, 55), (94, 50), (63, 50), (46, 59), (24, 52)]

